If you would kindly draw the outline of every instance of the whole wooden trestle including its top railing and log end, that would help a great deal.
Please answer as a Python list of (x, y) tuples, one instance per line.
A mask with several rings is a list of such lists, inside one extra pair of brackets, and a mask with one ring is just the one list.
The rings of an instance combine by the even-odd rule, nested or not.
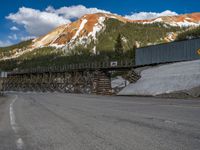
[[(112, 94), (110, 72), (132, 70), (132, 68), (132, 61), (121, 61), (115, 66), (110, 62), (103, 62), (18, 70), (8, 73), (8, 77), (4, 79), (4, 89), (110, 95)], [(131, 71), (130, 78), (135, 82), (139, 76)]]

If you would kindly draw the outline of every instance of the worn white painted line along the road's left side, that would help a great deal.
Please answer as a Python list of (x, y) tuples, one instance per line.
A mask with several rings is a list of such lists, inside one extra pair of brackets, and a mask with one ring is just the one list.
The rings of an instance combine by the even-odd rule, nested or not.
[[(17, 98), (18, 98), (18, 96), (16, 95), (15, 98), (13, 99), (13, 101), (10, 103), (10, 125), (11, 125), (12, 130), (15, 132), (16, 135), (18, 135), (19, 127), (16, 123), (13, 105), (16, 102)], [(18, 139), (16, 140), (16, 145), (17, 145), (17, 150), (23, 149), (24, 142), (23, 142), (22, 138), (18, 137)]]

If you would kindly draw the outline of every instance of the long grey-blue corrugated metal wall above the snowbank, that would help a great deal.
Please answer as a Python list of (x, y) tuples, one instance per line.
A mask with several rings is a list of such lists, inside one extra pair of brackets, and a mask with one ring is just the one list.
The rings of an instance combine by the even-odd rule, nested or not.
[(136, 65), (200, 59), (200, 39), (171, 42), (136, 49)]

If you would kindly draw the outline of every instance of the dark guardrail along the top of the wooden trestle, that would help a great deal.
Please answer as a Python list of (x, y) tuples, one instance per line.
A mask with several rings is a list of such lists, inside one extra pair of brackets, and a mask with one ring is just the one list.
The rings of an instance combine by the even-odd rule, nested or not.
[(123, 61), (107, 61), (107, 62), (94, 62), (94, 63), (80, 63), (80, 64), (68, 64), (64, 66), (51, 66), (51, 67), (37, 67), (31, 69), (15, 70), (9, 74), (28, 74), (28, 73), (45, 73), (45, 72), (66, 72), (66, 71), (78, 71), (78, 70), (115, 70), (130, 68), (134, 66), (133, 60)]

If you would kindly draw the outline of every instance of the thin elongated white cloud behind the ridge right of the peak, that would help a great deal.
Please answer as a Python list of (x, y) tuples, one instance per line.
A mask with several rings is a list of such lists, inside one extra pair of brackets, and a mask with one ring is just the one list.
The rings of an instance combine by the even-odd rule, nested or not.
[(131, 15), (126, 15), (125, 17), (132, 20), (145, 20), (145, 19), (154, 19), (160, 16), (176, 16), (176, 15), (178, 15), (176, 12), (166, 10), (161, 13), (155, 13), (155, 12), (132, 13)]

